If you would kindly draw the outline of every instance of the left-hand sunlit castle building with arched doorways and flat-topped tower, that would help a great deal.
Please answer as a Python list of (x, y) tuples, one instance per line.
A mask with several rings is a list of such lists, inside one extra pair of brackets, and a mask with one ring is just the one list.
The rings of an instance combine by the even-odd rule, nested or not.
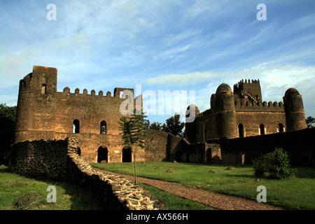
[(96, 95), (94, 90), (87, 94), (86, 89), (80, 93), (78, 88), (71, 93), (69, 87), (57, 92), (57, 69), (34, 66), (20, 80), (15, 142), (75, 137), (87, 162), (123, 162), (120, 106), (142, 106), (141, 96), (123, 99), (120, 94), (126, 90), (134, 92), (118, 87), (113, 96), (102, 91)]

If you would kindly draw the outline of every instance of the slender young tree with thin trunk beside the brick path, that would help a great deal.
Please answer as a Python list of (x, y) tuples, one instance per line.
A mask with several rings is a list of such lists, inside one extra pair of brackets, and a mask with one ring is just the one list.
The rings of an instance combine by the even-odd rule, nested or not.
[(146, 127), (144, 112), (138, 114), (136, 109), (131, 117), (120, 118), (120, 136), (125, 146), (130, 147), (132, 151), (132, 172), (134, 174), (134, 183), (137, 184), (137, 153), (139, 148), (144, 148), (146, 141)]

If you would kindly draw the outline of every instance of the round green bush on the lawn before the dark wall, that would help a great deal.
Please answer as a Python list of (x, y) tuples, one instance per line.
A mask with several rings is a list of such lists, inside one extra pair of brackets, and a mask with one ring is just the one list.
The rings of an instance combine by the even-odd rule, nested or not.
[(254, 174), (258, 178), (267, 172), (272, 179), (288, 179), (296, 172), (289, 167), (288, 154), (282, 148), (275, 148), (272, 153), (267, 153), (253, 162)]

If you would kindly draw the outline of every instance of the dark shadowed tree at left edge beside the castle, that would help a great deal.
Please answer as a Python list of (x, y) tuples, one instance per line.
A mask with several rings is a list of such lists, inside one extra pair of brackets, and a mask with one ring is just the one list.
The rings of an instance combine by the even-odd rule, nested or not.
[(14, 143), (16, 106), (0, 104), (0, 165), (8, 166), (10, 145)]

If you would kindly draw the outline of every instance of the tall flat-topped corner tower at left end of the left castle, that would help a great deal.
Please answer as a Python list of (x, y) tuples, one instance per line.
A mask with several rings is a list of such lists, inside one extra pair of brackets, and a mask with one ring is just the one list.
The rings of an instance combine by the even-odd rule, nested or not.
[(20, 80), (15, 141), (31, 140), (36, 134), (52, 137), (56, 99), (57, 69), (34, 66), (33, 72)]

